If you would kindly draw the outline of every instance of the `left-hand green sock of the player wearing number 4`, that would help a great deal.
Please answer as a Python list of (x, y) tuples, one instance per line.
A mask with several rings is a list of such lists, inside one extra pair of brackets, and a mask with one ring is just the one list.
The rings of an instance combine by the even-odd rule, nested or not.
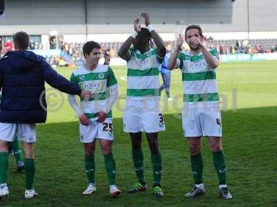
[(193, 170), (193, 178), (195, 179), (195, 184), (202, 184), (202, 171), (203, 171), (203, 160), (201, 153), (197, 155), (190, 155), (191, 170)]

